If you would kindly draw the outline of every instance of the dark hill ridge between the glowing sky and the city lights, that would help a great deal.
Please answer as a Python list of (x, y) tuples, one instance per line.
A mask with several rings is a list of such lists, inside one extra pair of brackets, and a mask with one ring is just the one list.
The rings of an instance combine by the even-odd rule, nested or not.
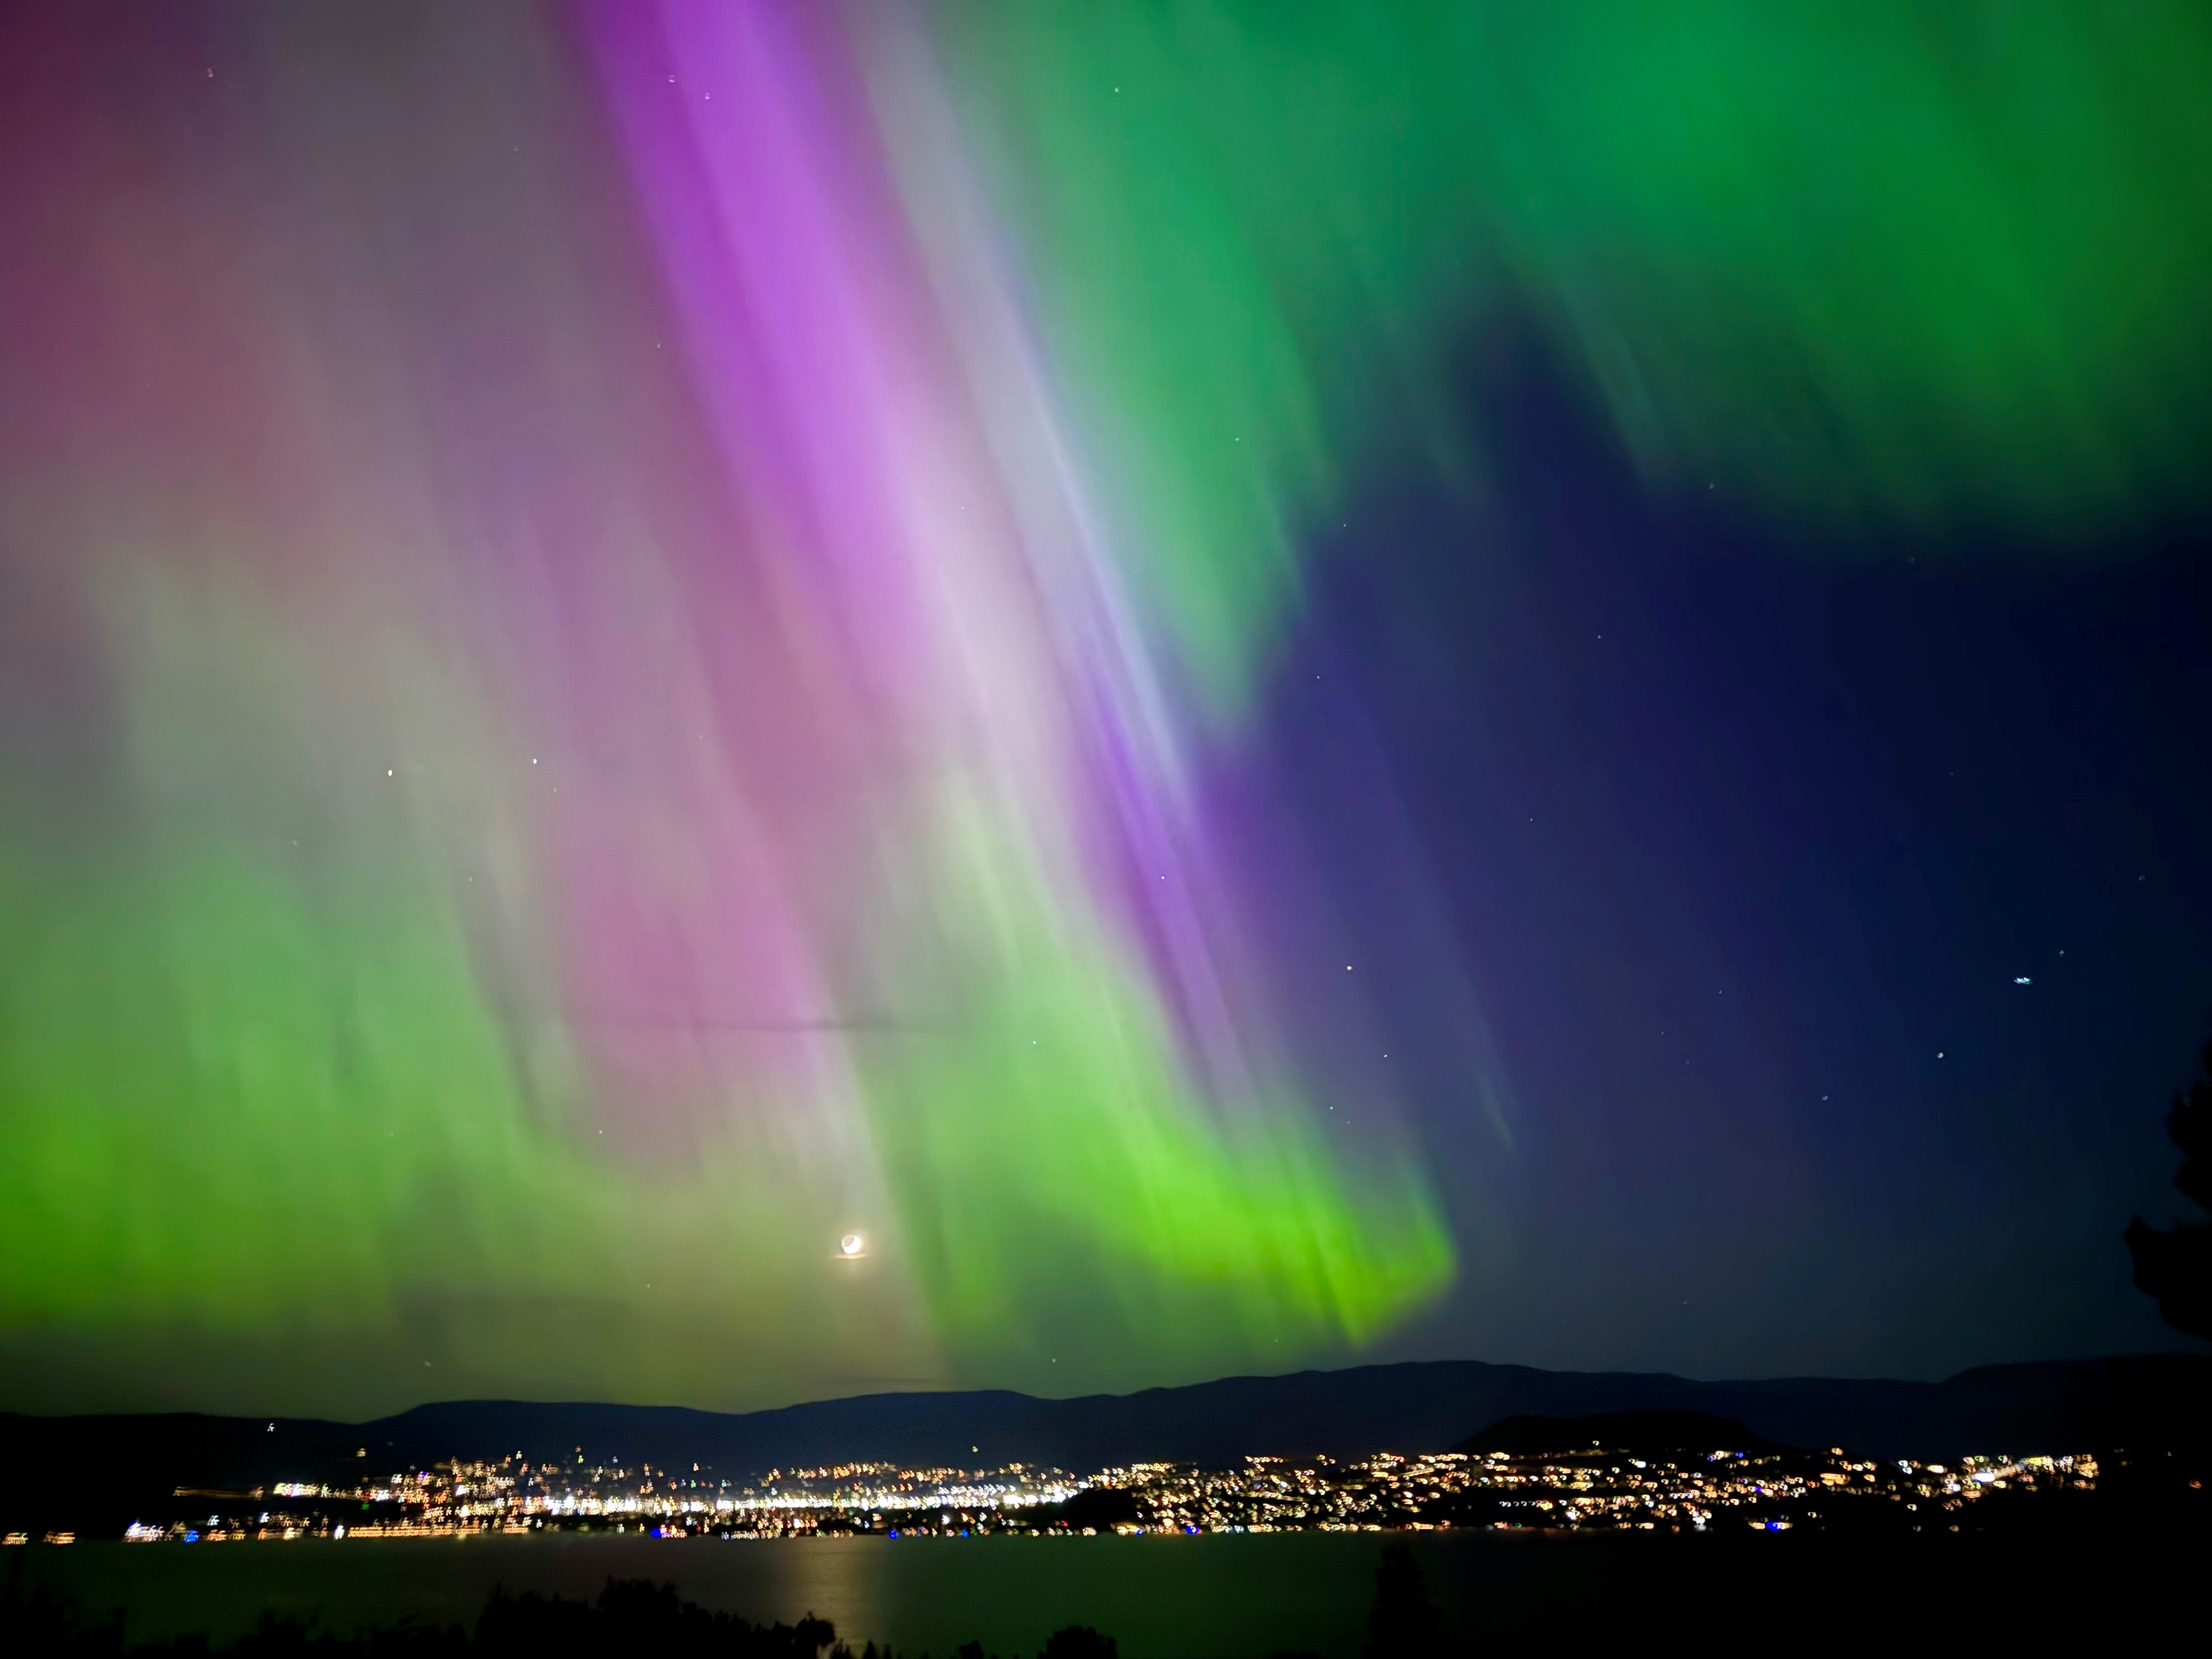
[[(0, 1416), (0, 1509), (53, 1482), (117, 1489), (252, 1486), (422, 1467), (451, 1455), (531, 1462), (697, 1462), (721, 1478), (843, 1460), (1099, 1469), (1146, 1458), (1440, 1451), (1513, 1416), (1703, 1411), (1794, 1447), (1898, 1458), (1964, 1451), (2194, 1447), (2212, 1358), (1997, 1365), (1947, 1383), (1537, 1371), (1438, 1360), (1237, 1376), (1181, 1389), (1037, 1400), (1026, 1394), (872, 1394), (726, 1416), (679, 1407), (456, 1400), (345, 1425), (314, 1418)], [(365, 1455), (356, 1455), (365, 1453)]]

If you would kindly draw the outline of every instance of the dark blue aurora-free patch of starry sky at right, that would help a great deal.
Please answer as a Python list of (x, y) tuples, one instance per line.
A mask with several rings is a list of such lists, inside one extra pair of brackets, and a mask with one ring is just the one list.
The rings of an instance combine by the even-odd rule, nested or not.
[(1389, 832), (1327, 785), (1301, 818), (1345, 872), (1422, 845), (1511, 1088), (1500, 1161), (1431, 1073), (1484, 1245), (1389, 1352), (1940, 1376), (2185, 1345), (2112, 1217), (2179, 1212), (2163, 1108), (2212, 1024), (2203, 533), (1814, 540), (1641, 484), (1522, 336), (1467, 396), (1495, 498), (1354, 509), (1301, 639), (1325, 677), (1270, 732), (1285, 770), (1394, 779)]

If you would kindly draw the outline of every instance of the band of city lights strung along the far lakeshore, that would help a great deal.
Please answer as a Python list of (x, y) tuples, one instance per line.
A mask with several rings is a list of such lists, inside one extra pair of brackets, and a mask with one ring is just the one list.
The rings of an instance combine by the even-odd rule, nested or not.
[[(688, 1460), (686, 1460), (688, 1462)], [(841, 1462), (723, 1478), (701, 1464), (447, 1460), (358, 1486), (288, 1480), (268, 1489), (179, 1489), (170, 1511), (139, 1515), (126, 1542), (639, 1533), (653, 1537), (1097, 1537), (1108, 1533), (1380, 1531), (1705, 1531), (1889, 1526), (1960, 1531), (1975, 1504), (2095, 1491), (2088, 1455), (1962, 1458), (1880, 1464), (1845, 1451), (1679, 1451), (1630, 1455), (1582, 1447), (1546, 1453), (1374, 1453), (1336, 1460), (1250, 1455), (1228, 1469), (1133, 1462), (1075, 1475)], [(2011, 1498), (2000, 1498), (2008, 1493)], [(232, 1513), (223, 1513), (223, 1509)], [(343, 1520), (341, 1520), (343, 1517)], [(9, 1544), (29, 1533), (7, 1535)], [(49, 1535), (58, 1540), (60, 1535)]]

